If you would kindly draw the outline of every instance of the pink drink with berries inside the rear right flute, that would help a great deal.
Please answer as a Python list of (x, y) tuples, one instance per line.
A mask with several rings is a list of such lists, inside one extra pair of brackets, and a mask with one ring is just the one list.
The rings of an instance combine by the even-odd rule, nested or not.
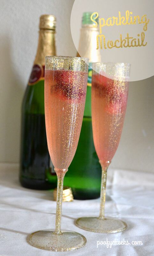
[(118, 147), (128, 97), (128, 82), (92, 76), (92, 130), (102, 163), (111, 161)]

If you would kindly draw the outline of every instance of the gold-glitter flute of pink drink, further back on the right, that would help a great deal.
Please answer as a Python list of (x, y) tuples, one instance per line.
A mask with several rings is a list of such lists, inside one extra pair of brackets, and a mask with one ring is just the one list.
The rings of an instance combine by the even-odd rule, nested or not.
[(118, 148), (128, 98), (130, 64), (94, 63), (92, 74), (92, 131), (102, 167), (99, 217), (82, 217), (78, 227), (98, 233), (116, 233), (127, 228), (124, 221), (104, 216), (107, 168)]

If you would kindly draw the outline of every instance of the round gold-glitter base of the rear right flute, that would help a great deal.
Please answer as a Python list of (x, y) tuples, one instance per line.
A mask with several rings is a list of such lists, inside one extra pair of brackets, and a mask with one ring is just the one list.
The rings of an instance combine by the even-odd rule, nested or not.
[(112, 218), (82, 217), (76, 220), (76, 224), (79, 228), (96, 233), (117, 233), (127, 228), (124, 221)]

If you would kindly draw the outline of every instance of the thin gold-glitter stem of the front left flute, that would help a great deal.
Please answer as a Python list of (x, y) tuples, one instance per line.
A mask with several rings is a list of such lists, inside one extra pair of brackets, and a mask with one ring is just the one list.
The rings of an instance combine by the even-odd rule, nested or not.
[(61, 219), (62, 219), (62, 192), (63, 192), (63, 180), (65, 173), (68, 169), (55, 169), (57, 174), (57, 204), (56, 204), (56, 217), (55, 217), (55, 234), (62, 235), (61, 231)]

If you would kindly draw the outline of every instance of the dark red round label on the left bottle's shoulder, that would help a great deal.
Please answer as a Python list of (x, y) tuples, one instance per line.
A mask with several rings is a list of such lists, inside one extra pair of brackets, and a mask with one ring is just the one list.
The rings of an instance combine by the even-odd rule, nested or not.
[(34, 64), (30, 78), (29, 78), (28, 85), (34, 85), (38, 83), (38, 81), (44, 80), (44, 70), (45, 70), (45, 66)]

